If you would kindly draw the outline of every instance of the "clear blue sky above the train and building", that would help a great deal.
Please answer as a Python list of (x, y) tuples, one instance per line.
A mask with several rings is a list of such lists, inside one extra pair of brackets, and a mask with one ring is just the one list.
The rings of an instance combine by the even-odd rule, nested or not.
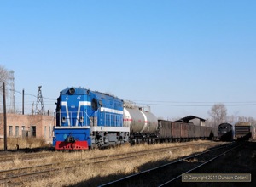
[[(256, 118), (256, 1), (0, 0), (0, 65), (45, 109), (81, 86), (156, 116)], [(20, 106), (21, 96), (15, 94)], [(36, 98), (26, 95), (26, 111)]]

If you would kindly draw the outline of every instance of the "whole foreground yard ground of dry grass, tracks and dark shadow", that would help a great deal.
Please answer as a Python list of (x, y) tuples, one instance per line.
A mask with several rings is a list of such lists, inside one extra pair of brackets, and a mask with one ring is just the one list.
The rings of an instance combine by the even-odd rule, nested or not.
[[(0, 156), (2, 186), (256, 186), (256, 142), (200, 140)], [(247, 173), (251, 182), (182, 183), (182, 173)]]

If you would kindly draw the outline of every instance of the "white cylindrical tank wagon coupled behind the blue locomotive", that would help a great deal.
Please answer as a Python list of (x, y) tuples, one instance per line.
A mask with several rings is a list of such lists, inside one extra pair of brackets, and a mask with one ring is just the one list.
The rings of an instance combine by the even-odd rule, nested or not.
[(130, 127), (131, 142), (152, 143), (158, 132), (158, 120), (153, 113), (143, 108), (124, 108), (124, 127)]

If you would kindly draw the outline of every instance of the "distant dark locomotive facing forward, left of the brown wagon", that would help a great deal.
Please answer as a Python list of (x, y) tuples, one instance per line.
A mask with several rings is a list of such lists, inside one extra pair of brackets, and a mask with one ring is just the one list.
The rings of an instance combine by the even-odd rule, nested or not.
[(224, 122), (218, 125), (218, 139), (221, 141), (232, 141), (234, 138), (233, 126)]

